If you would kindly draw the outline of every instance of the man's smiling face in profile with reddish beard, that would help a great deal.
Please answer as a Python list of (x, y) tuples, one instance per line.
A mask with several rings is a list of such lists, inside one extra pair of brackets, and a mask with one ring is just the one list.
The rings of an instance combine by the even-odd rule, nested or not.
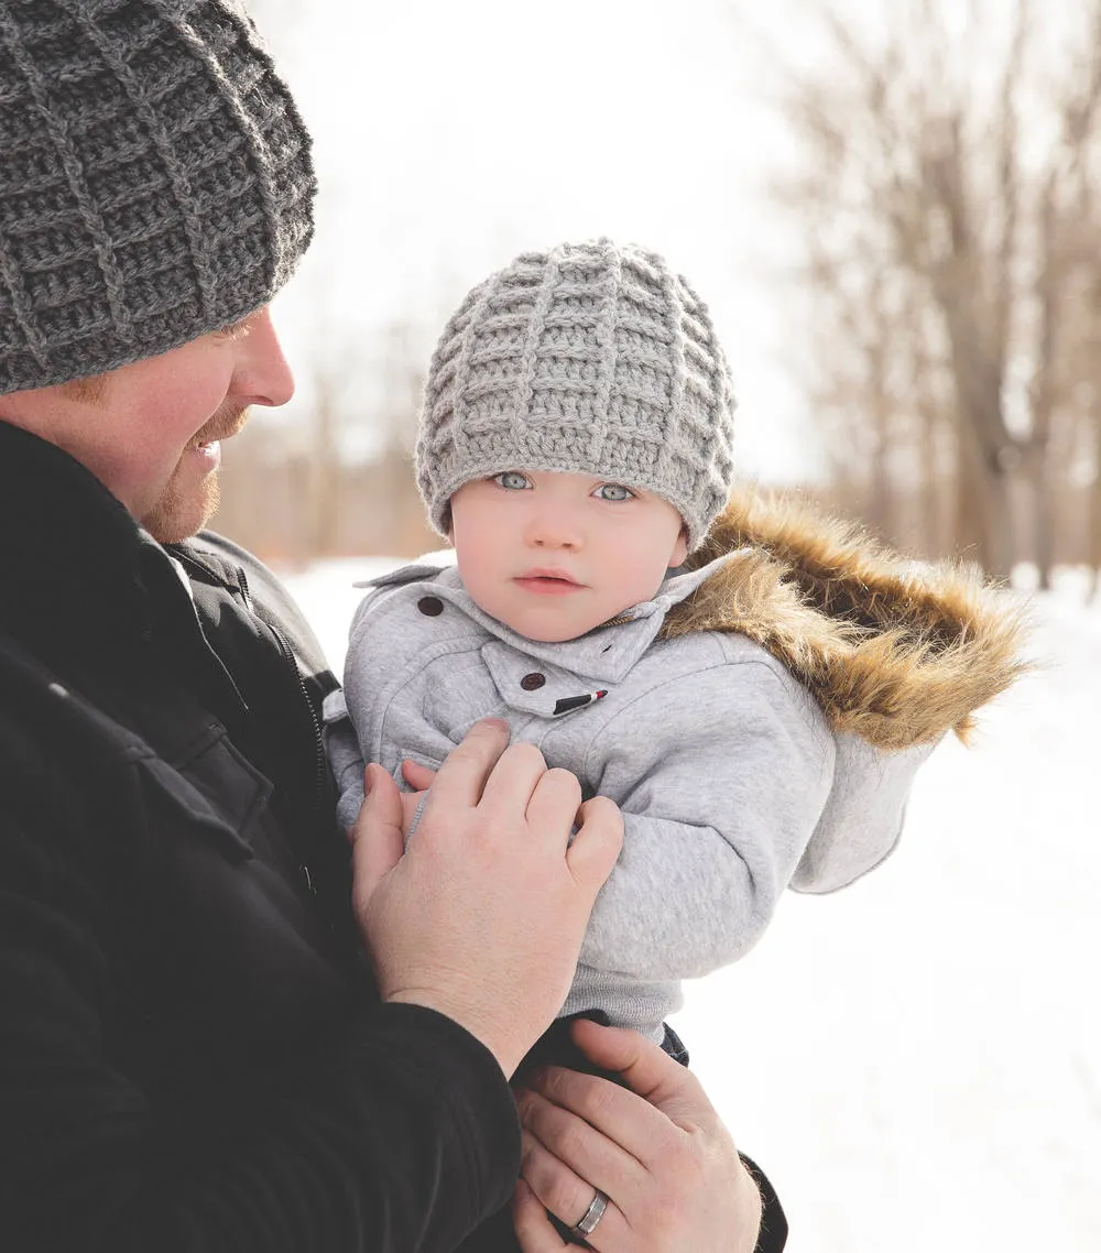
[(283, 405), (294, 381), (267, 308), (96, 380), (16, 392), (0, 416), (83, 462), (164, 544), (218, 505), (219, 441), (249, 405)]

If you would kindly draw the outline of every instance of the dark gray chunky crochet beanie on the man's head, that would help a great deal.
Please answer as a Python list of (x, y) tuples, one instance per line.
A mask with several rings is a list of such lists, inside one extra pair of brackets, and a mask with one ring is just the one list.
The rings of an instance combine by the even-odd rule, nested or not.
[(0, 395), (247, 317), (313, 190), (238, 0), (0, 0)]

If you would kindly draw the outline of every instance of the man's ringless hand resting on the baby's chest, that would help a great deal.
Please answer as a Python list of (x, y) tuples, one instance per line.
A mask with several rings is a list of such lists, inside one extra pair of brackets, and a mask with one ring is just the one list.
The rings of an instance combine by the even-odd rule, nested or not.
[(507, 743), (501, 722), (471, 729), (440, 767), (405, 856), (397, 784), (370, 766), (352, 867), (383, 1000), (447, 1014), (511, 1075), (566, 999), (623, 816), (602, 797), (581, 804), (572, 774)]

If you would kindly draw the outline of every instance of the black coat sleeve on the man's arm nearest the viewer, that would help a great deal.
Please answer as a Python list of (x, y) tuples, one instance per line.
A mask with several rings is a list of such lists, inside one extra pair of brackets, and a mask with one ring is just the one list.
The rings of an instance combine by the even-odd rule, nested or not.
[(104, 832), (53, 802), (71, 789), (3, 714), (0, 1248), (443, 1253), (507, 1200), (507, 1084), (431, 1010), (363, 1006), (212, 1076), (217, 1099), (158, 1108), (125, 1061), (142, 1027), (118, 1016)]

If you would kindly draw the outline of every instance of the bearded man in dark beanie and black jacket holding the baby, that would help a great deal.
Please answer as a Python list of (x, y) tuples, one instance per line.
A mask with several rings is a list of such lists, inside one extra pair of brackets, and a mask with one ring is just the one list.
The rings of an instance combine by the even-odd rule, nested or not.
[[(618, 852), (607, 802), (486, 723), (406, 856), (368, 772), (349, 873), (333, 679), (268, 571), (193, 538), (219, 441), (292, 392), (267, 306), (312, 197), (230, 0), (0, 0), (13, 1253), (456, 1248), (512, 1193), (506, 1080)], [(690, 1076), (591, 1024), (579, 1042), (650, 1100), (554, 1073), (520, 1098), (524, 1248), (561, 1247), (547, 1205), (601, 1248), (750, 1249), (757, 1190)]]

